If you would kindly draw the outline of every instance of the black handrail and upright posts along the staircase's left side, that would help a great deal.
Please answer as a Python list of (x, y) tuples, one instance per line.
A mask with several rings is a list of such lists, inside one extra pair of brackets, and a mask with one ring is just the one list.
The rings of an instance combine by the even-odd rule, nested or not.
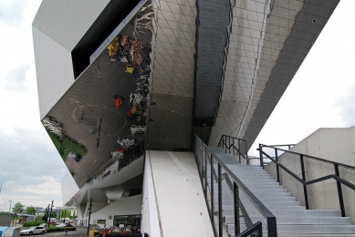
[[(249, 199), (254, 203), (254, 205), (256, 206), (256, 208), (257, 208), (257, 210), (258, 211), (260, 211), (265, 217), (266, 217), (266, 223), (267, 223), (267, 233), (268, 233), (268, 235), (269, 236), (277, 236), (277, 218), (275, 217), (275, 215), (271, 212), (271, 211), (269, 211), (267, 208), (266, 208), (266, 206), (261, 202), (261, 201), (259, 201), (257, 198), (256, 198), (256, 196), (254, 195), (254, 193), (252, 192), (252, 191), (250, 191), (246, 186), (245, 186), (245, 184), (241, 181), (241, 180), (239, 180), (236, 176), (235, 176), (235, 174), (231, 171), (231, 170), (229, 170), (229, 168), (224, 164), (224, 162), (222, 161), (222, 160), (220, 160), (215, 154), (214, 154), (214, 152), (212, 151), (212, 150), (210, 150), (205, 144), (204, 144), (204, 142), (200, 139), (200, 138), (198, 138), (196, 135), (195, 135), (195, 139), (197, 139), (201, 144), (202, 144), (202, 146), (203, 146), (203, 148), (205, 149), (205, 150), (208, 150), (209, 151), (209, 153), (210, 153), (210, 155), (211, 155), (211, 160), (212, 159), (214, 159), (214, 160), (216, 160), (217, 161), (217, 163), (218, 163), (218, 189), (219, 189), (219, 192), (221, 191), (222, 192), (222, 190), (220, 190), (220, 189), (222, 189), (222, 178), (221, 178), (221, 176), (222, 176), (222, 173), (221, 173), (221, 170), (222, 170), (222, 168), (225, 170), (225, 172), (229, 175), (229, 177), (231, 177), (231, 179), (233, 180), (233, 182), (234, 182), (234, 199), (235, 199), (235, 203), (236, 203), (236, 192), (238, 192), (238, 189), (239, 188), (241, 188), (244, 192), (245, 192), (245, 195), (247, 195), (248, 197), (249, 197)], [(195, 144), (196, 144), (196, 142), (195, 142)], [(196, 152), (196, 150), (195, 150), (195, 152)], [(196, 154), (196, 153), (195, 153)], [(202, 182), (202, 184), (203, 184), (203, 188), (205, 189), (205, 190), (207, 190), (207, 167), (205, 167), (205, 172), (204, 172), (204, 174), (205, 174), (205, 177), (204, 177), (204, 179), (205, 179), (205, 183), (203, 182), (203, 177), (202, 177), (202, 175), (203, 175), (203, 167), (202, 167), (202, 163), (203, 163), (203, 159), (204, 160), (207, 160), (207, 158), (206, 158), (206, 152), (204, 152), (204, 158), (202, 158), (202, 160), (201, 160), (201, 169), (199, 168), (199, 173), (200, 173), (200, 176), (201, 176), (201, 182)], [(197, 156), (195, 155), (195, 157), (196, 157), (196, 159), (197, 159)], [(200, 160), (198, 160), (198, 161), (200, 161)], [(207, 162), (205, 161), (205, 164), (207, 164)], [(213, 168), (213, 165), (214, 165), (214, 162), (212, 161), (212, 162), (210, 162), (210, 165), (211, 165), (211, 167)], [(213, 186), (213, 183), (211, 183), (212, 185), (212, 187), (210, 188), (210, 190), (211, 190), (211, 193), (213, 193), (214, 192), (214, 186)], [(204, 187), (205, 186), (205, 187)], [(235, 192), (235, 188), (236, 188), (236, 192)], [(208, 201), (207, 201), (207, 193), (206, 193), (206, 191), (204, 191), (204, 198), (205, 198), (205, 201), (206, 201), (206, 204), (207, 204), (207, 208), (208, 208), (208, 211), (209, 211), (209, 213), (210, 213), (210, 218), (211, 218), (211, 222), (213, 223), (213, 228), (214, 228), (214, 233), (216, 234), (216, 232), (215, 232), (215, 227), (214, 227), (214, 216), (213, 216), (213, 210), (210, 210), (210, 207), (209, 207), (209, 205), (208, 205)], [(213, 194), (212, 194), (212, 196), (213, 196)], [(213, 199), (212, 199), (212, 201), (211, 201), (211, 203), (213, 203)], [(213, 205), (213, 204), (212, 204)], [(219, 236), (222, 236), (222, 196), (221, 195), (218, 195), (218, 206), (220, 207), (219, 208), (219, 220), (220, 220), (220, 230), (219, 230)], [(236, 213), (237, 211), (235, 211), (235, 213)], [(236, 220), (236, 218), (235, 218), (235, 220)], [(238, 221), (239, 221), (239, 219), (238, 219)], [(236, 221), (235, 221), (235, 228), (236, 228)], [(235, 232), (235, 233), (237, 233), (237, 232)]]

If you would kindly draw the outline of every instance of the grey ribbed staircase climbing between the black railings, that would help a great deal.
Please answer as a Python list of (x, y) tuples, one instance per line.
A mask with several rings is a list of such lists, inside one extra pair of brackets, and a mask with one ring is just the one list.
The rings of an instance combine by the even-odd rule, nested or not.
[[(339, 210), (306, 210), (266, 170), (258, 166), (240, 165), (235, 157), (226, 154), (222, 148), (209, 149), (219, 159), (223, 160), (228, 169), (232, 170), (235, 176), (242, 180), (245, 186), (256, 195), (256, 198), (263, 202), (266, 208), (277, 217), (277, 236), (355, 237), (355, 226), (351, 225), (350, 217), (341, 217)], [(218, 173), (216, 164), (214, 164), (214, 170)], [(210, 183), (211, 173), (209, 170), (207, 176), (208, 183)], [(233, 194), (225, 180), (222, 183), (225, 232), (229, 236), (235, 236)], [(245, 209), (247, 210), (248, 207), (245, 207)], [(215, 184), (214, 211), (218, 211), (218, 191)], [(249, 211), (251, 219), (255, 219), (256, 211)], [(243, 232), (246, 229), (244, 218), (241, 218), (240, 222), (241, 232)], [(266, 220), (263, 222), (263, 230), (266, 230)], [(264, 236), (266, 236), (266, 232)]]

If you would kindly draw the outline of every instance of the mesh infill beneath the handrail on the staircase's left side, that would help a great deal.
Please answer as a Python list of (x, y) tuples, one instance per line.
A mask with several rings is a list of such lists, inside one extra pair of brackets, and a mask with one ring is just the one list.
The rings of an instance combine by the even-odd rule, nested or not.
[(234, 236), (235, 232), (244, 232), (256, 222), (263, 223), (263, 235), (267, 236), (267, 220), (275, 217), (263, 212), (266, 208), (256, 204), (254, 194), (231, 170), (224, 170), (222, 161), (215, 158), (200, 139), (195, 140), (194, 153), (215, 236)]

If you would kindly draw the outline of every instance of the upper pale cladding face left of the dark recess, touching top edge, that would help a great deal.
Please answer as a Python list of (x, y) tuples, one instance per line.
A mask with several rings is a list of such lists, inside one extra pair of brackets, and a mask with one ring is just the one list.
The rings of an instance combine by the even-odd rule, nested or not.
[(44, 0), (33, 26), (71, 51), (109, 3), (110, 0)]

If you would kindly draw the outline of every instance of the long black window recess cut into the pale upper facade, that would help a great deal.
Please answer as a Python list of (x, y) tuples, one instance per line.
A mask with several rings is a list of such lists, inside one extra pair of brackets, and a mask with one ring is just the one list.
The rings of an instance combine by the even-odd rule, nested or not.
[(75, 78), (89, 66), (89, 57), (140, 2), (141, 0), (110, 1), (71, 52)]

